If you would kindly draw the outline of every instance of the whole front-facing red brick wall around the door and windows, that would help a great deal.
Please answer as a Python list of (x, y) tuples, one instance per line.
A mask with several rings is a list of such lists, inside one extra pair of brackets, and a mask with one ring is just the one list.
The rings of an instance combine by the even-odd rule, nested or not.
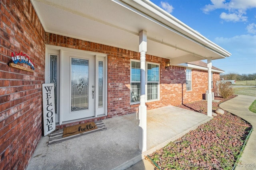
[[(92, 43), (80, 39), (46, 33), (45, 43), (108, 55), (108, 118), (138, 111), (138, 104), (130, 105), (130, 59), (140, 60), (140, 53)], [(208, 87), (207, 71), (192, 70), (192, 91), (186, 92), (186, 68), (170, 66), (165, 68), (168, 59), (146, 55), (146, 61), (160, 64), (160, 100), (146, 102), (148, 109), (202, 100)], [(198, 83), (196, 83), (198, 82)], [(106, 117), (101, 117), (104, 119)], [(96, 121), (90, 119), (86, 121)], [(80, 122), (79, 122), (80, 123)], [(74, 124), (74, 123), (71, 123)], [(70, 126), (61, 125), (57, 128)]]

